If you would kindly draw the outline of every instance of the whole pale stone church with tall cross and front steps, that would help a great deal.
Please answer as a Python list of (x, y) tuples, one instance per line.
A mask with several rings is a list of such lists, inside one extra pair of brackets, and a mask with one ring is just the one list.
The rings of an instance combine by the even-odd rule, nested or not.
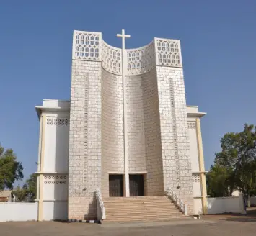
[(207, 214), (206, 113), (186, 104), (180, 40), (126, 49), (117, 36), (121, 48), (74, 31), (70, 101), (35, 107), (39, 221)]

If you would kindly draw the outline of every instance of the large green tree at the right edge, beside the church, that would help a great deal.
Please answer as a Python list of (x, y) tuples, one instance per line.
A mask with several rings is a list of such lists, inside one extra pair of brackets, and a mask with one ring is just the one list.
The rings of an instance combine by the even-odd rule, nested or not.
[[(216, 153), (214, 163), (215, 168), (211, 168), (208, 173), (208, 188), (211, 189), (209, 192), (216, 193), (213, 188), (214, 181), (216, 186), (217, 183), (223, 184), (221, 181), (226, 179), (224, 186), (228, 186), (229, 194), (234, 189), (239, 189), (244, 195), (250, 196), (256, 187), (256, 127), (245, 124), (242, 132), (224, 135), (221, 138), (221, 152)], [(222, 172), (213, 181), (214, 171), (218, 168)]]

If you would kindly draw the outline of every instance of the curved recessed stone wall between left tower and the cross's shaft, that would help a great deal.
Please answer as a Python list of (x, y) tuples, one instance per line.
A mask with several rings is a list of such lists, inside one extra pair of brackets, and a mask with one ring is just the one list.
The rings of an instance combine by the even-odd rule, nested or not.
[(108, 173), (124, 173), (123, 77), (102, 68), (102, 197), (109, 196)]

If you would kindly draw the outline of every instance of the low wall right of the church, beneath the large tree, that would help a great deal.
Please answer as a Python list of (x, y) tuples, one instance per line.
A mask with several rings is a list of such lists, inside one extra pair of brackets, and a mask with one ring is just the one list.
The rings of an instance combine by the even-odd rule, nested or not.
[(207, 207), (208, 214), (245, 213), (242, 194), (239, 196), (208, 198)]

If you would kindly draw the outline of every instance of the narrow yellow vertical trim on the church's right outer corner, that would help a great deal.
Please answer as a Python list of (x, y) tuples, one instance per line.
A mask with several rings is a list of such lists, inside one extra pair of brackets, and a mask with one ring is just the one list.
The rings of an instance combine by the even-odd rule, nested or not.
[(203, 160), (203, 141), (201, 134), (201, 124), (200, 118), (196, 118), (196, 136), (198, 141), (198, 158), (199, 158), (199, 175), (200, 175), (200, 184), (201, 184), (201, 194), (202, 194), (202, 209), (203, 214), (207, 214), (207, 190), (206, 190), (206, 173), (205, 165)]

